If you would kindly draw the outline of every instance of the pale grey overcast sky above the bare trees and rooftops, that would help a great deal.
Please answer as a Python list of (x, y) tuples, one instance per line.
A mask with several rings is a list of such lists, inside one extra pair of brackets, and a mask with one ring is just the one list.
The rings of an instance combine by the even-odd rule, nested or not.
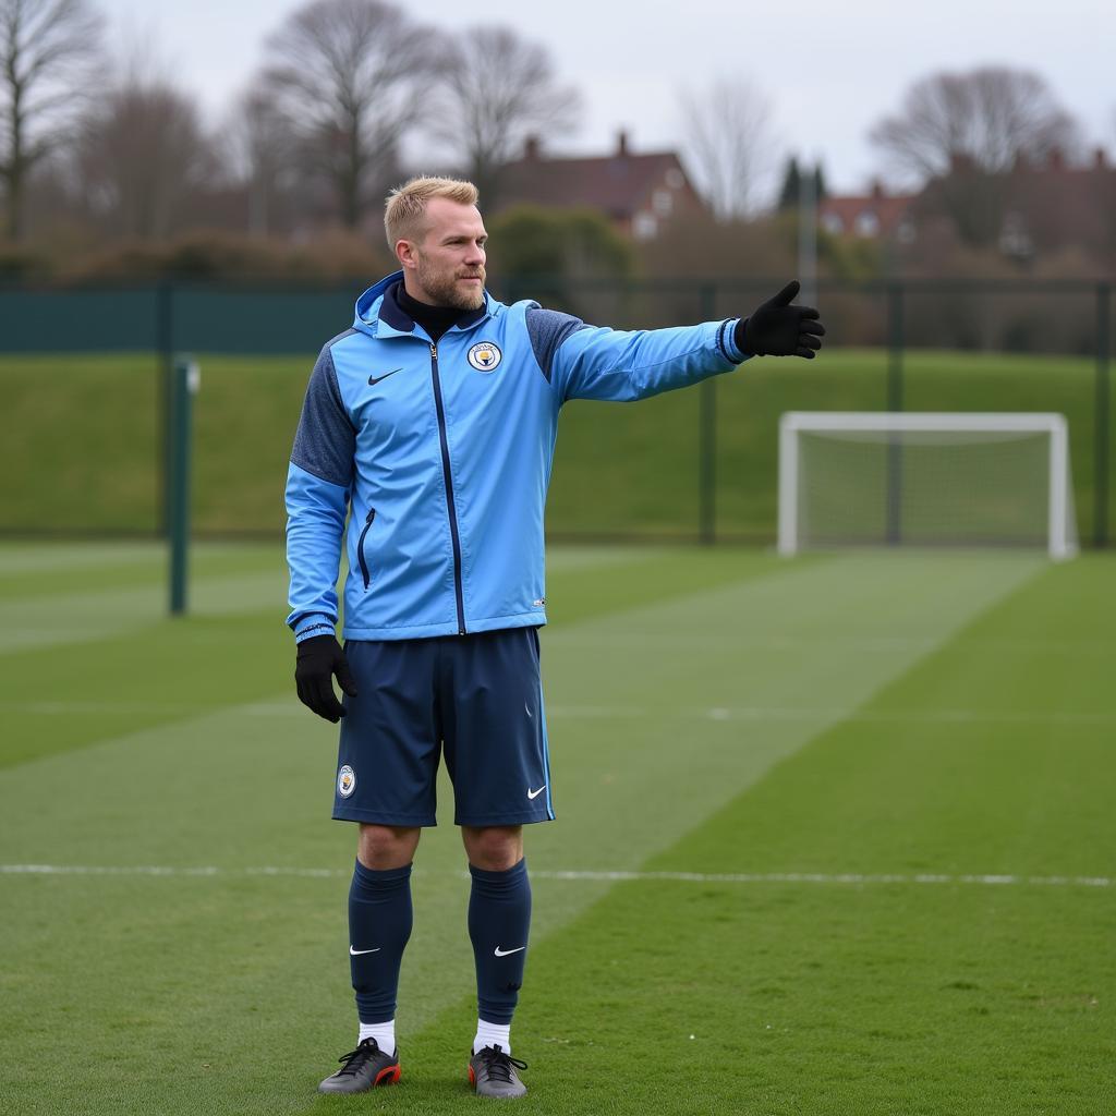
[[(176, 71), (217, 123), (298, 0), (93, 0), (110, 41), (141, 44)], [(883, 169), (867, 141), (916, 78), (998, 64), (1032, 69), (1081, 124), (1116, 150), (1116, 3), (1110, 0), (686, 0), (636, 6), (561, 0), (420, 0), (415, 19), (448, 32), (502, 23), (546, 44), (583, 97), (580, 128), (551, 150), (604, 153), (626, 128), (635, 151), (676, 147), (682, 85), (744, 76), (771, 107), (781, 155), (820, 158), (829, 189), (850, 193)], [(549, 6), (548, 6), (549, 7)], [(479, 66), (484, 65), (478, 58)]]

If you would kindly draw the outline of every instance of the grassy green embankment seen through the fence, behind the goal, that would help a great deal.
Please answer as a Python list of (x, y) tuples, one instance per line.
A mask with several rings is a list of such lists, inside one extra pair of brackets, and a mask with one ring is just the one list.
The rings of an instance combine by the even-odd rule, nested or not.
[[(312, 357), (202, 356), (194, 526), (281, 530), (282, 479)], [(835, 349), (758, 360), (716, 382), (718, 530), (770, 540), (778, 419), (885, 406), (887, 355)], [(1088, 358), (908, 353), (910, 411), (1060, 411), (1070, 422), (1079, 528), (1093, 525), (1094, 366)], [(0, 529), (148, 532), (158, 507), (154, 358), (0, 357)], [(560, 535), (692, 535), (699, 392), (637, 406), (575, 402), (559, 430), (548, 526)], [(1116, 484), (1110, 484), (1110, 490)]]

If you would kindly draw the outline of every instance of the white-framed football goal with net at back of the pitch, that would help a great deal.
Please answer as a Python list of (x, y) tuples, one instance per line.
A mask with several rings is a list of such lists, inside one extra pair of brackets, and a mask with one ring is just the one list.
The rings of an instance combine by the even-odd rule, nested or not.
[(790, 411), (779, 424), (779, 552), (1041, 547), (1077, 554), (1060, 414)]

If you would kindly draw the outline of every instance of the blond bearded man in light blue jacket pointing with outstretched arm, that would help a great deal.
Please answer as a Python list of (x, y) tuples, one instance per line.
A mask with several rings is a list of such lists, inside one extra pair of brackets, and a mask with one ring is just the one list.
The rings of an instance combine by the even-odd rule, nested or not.
[(401, 271), (365, 291), (353, 328), (323, 348), (288, 471), (298, 695), (344, 718), (334, 817), (359, 826), (348, 906), (359, 1031), (325, 1093), (400, 1079), (411, 865), (435, 824), (440, 751), (472, 876), (469, 1077), (480, 1096), (527, 1091), (510, 1031), (531, 911), (522, 827), (555, 817), (537, 629), (562, 403), (643, 398), (752, 355), (812, 357), (825, 333), (817, 310), (790, 305), (798, 283), (747, 319), (635, 333), (501, 305), (484, 289), (477, 201), (448, 179), (393, 192), (384, 223)]

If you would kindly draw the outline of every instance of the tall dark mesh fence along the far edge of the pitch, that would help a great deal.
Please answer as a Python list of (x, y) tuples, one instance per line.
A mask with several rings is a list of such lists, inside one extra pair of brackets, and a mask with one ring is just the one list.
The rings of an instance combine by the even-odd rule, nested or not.
[[(363, 283), (0, 288), (0, 532), (166, 528), (167, 377), (201, 365), (192, 522), (277, 536), (301, 396)], [(745, 314), (780, 279), (569, 285), (496, 294), (624, 328)], [(1057, 411), (1069, 419), (1081, 538), (1108, 543), (1112, 289), (1106, 282), (821, 283), (822, 358), (757, 360), (636, 406), (564, 412), (554, 537), (770, 541), (788, 410)]]

